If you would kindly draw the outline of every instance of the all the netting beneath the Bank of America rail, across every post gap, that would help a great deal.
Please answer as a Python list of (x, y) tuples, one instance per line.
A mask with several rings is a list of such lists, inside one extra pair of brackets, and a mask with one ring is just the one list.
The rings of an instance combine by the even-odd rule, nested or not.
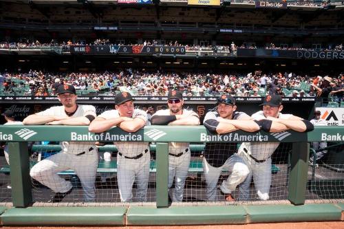
[[(65, 204), (156, 201), (155, 144), (122, 142), (114, 146), (107, 143), (97, 146), (99, 152), (87, 148), (89, 151), (85, 153), (69, 148), (72, 155), (60, 153), (58, 142), (50, 144), (33, 146), (30, 153), (34, 202), (51, 202), (56, 191), (67, 191), (61, 198), (61, 203)], [(288, 199), (288, 156), (292, 143), (178, 144), (169, 147), (169, 197), (173, 204)], [(343, 151), (343, 142), (311, 144), (310, 157), (316, 163), (311, 159), (308, 168), (305, 193), (308, 201), (343, 199)], [(148, 172), (143, 173), (144, 169)], [(2, 152), (0, 171), (0, 202), (3, 204), (11, 202), (12, 197), (10, 168)], [(70, 193), (69, 187), (72, 188)], [(228, 190), (235, 202), (226, 199)]]

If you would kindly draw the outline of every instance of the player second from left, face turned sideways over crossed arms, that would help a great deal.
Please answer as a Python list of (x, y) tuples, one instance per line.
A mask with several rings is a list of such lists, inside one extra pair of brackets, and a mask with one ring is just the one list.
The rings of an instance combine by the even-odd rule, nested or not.
[[(101, 113), (90, 125), (89, 131), (100, 133), (111, 127), (123, 131), (136, 132), (147, 124), (147, 113), (134, 109), (133, 98), (128, 92), (121, 92), (115, 97), (115, 108)], [(133, 199), (131, 190), (136, 180), (138, 201), (147, 201), (150, 151), (148, 142), (114, 142), (118, 149), (117, 180), (120, 200), (129, 202)]]

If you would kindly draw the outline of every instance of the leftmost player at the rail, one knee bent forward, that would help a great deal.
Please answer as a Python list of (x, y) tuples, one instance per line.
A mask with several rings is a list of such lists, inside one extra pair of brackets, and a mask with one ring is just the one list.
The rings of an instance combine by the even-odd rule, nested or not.
[[(60, 85), (56, 90), (62, 106), (50, 107), (45, 111), (32, 114), (23, 124), (50, 124), (86, 126), (96, 118), (96, 108), (76, 103), (76, 90), (73, 85)], [(94, 201), (96, 194), (94, 182), (98, 166), (98, 153), (94, 142), (61, 142), (62, 151), (35, 164), (30, 176), (56, 193), (50, 200), (58, 203), (72, 192), (71, 182), (57, 173), (73, 169), (83, 186), (85, 201)]]

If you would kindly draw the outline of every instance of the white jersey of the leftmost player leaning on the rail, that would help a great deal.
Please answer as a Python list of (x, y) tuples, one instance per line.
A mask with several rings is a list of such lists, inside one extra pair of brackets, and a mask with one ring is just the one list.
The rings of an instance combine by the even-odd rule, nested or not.
[[(63, 106), (56, 106), (50, 107), (45, 111), (41, 111), (36, 113), (38, 116), (63, 116), (63, 117), (70, 117), (70, 118), (77, 118), (82, 116), (94, 116), (96, 117), (96, 108), (92, 105), (78, 105), (78, 109), (76, 109), (75, 113), (72, 116), (67, 116), (65, 113), (65, 107)], [(78, 154), (83, 151), (88, 151), (88, 149), (94, 145), (94, 142), (61, 142), (62, 151), (69, 153), (69, 154)]]

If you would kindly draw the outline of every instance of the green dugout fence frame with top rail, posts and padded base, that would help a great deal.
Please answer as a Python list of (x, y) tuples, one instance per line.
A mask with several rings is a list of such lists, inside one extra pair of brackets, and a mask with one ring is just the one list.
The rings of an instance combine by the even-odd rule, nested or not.
[[(308, 166), (309, 142), (337, 142), (336, 153), (343, 153), (343, 127), (315, 127), (310, 133), (288, 131), (288, 136), (280, 140), (270, 133), (246, 133), (236, 131), (226, 135), (212, 135), (200, 127), (144, 127), (129, 136), (129, 133), (116, 128), (107, 133), (88, 133), (87, 127), (47, 127), (25, 126), (33, 133), (25, 140), (20, 136), (22, 126), (1, 126), (1, 140), (8, 142), (10, 152), (10, 180), (12, 201), (3, 202), (0, 215), (3, 225), (171, 225), (171, 224), (223, 224), (252, 223), (267, 221), (340, 221), (344, 210), (343, 173), (336, 171), (332, 176), (337, 189), (330, 190), (336, 195), (307, 196), (310, 187), (316, 192), (325, 193), (328, 181), (312, 173)], [(158, 139), (149, 137), (149, 131), (165, 133)], [(108, 138), (127, 141), (155, 142), (155, 183), (156, 199), (150, 203), (59, 203), (37, 204), (32, 200), (32, 182), (27, 141), (107, 141)], [(108, 138), (106, 136), (109, 136)], [(122, 136), (122, 137), (121, 137)], [(127, 136), (127, 137), (126, 137)], [(226, 136), (226, 137), (225, 137)], [(292, 150), (287, 173), (288, 196), (282, 201), (248, 201), (228, 204), (225, 202), (195, 202), (170, 204), (168, 199), (168, 142), (195, 142), (198, 145), (208, 142), (290, 142)], [(194, 146), (197, 148), (197, 146)], [(343, 162), (336, 162), (343, 166)], [(313, 177), (312, 177), (313, 176)], [(313, 179), (314, 178), (314, 179)], [(326, 183), (327, 182), (327, 183)], [(315, 193), (316, 193), (315, 192)], [(313, 193), (314, 194), (314, 193)], [(315, 194), (314, 194), (315, 195)]]

